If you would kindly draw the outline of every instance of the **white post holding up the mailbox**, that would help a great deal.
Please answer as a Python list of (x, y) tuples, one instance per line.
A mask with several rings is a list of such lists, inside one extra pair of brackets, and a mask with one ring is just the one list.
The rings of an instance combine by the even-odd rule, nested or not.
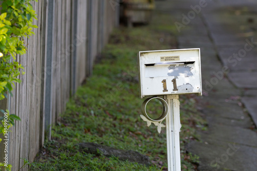
[(178, 95), (167, 95), (164, 96), (164, 99), (169, 105), (169, 113), (166, 118), (168, 170), (180, 171), (180, 116)]

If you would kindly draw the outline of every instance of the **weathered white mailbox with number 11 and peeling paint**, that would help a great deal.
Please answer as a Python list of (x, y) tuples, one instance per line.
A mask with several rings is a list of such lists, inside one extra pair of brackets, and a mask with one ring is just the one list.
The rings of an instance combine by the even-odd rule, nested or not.
[(201, 96), (200, 49), (140, 51), (141, 98), (196, 93)]

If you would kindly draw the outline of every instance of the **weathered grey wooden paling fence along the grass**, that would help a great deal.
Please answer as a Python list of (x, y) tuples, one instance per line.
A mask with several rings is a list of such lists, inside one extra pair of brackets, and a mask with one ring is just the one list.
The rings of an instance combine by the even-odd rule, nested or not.
[[(68, 99), (92, 73), (96, 55), (107, 43), (119, 20), (119, 6), (113, 0), (41, 0), (33, 2), (38, 29), (27, 40), (27, 53), (17, 56), (26, 74), (20, 75), (13, 97), (0, 102), (22, 121), (9, 132), (9, 160), (12, 170), (33, 161), (50, 138)], [(3, 141), (0, 162), (3, 160)], [(24, 168), (23, 170), (26, 170)]]

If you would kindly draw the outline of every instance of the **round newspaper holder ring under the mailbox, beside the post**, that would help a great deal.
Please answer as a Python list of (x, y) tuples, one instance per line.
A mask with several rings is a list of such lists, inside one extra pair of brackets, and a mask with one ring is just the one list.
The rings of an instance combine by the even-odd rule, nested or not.
[[(148, 104), (148, 102), (152, 99), (158, 99), (161, 104), (163, 105), (163, 111), (162, 111), (162, 114), (159, 118), (157, 119), (152, 119), (150, 118), (147, 113), (146, 113), (146, 105)], [(164, 120), (167, 115), (168, 115), (168, 112), (169, 112), (169, 106), (168, 106), (168, 103), (162, 99), (162, 98), (159, 98), (159, 97), (151, 97), (151, 98), (148, 98), (148, 99), (145, 99), (141, 105), (141, 111), (143, 113), (143, 116), (145, 116), (148, 120), (152, 121), (152, 122), (159, 122), (159, 121), (162, 121)]]

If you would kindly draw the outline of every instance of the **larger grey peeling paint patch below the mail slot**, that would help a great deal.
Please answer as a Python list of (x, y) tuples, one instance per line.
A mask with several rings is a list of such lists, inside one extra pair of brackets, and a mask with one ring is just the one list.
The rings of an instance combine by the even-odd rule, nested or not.
[(192, 67), (189, 66), (183, 66), (183, 65), (170, 65), (168, 67), (168, 75), (169, 76), (183, 76), (183, 77), (191, 77), (193, 76), (193, 73), (191, 72)]

